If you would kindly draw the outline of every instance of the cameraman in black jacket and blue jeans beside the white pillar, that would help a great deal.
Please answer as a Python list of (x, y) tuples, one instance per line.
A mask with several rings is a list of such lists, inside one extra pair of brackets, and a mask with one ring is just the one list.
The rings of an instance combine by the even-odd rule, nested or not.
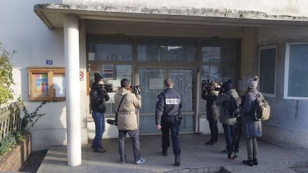
[(102, 146), (103, 132), (105, 132), (106, 101), (109, 95), (106, 88), (103, 88), (103, 77), (99, 73), (94, 74), (94, 83), (90, 92), (92, 117), (96, 125), (96, 135), (93, 140), (92, 148), (94, 152), (106, 152)]

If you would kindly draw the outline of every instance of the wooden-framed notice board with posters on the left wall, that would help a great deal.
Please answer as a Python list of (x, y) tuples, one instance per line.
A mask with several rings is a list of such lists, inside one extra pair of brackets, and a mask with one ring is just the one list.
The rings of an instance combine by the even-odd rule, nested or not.
[(29, 100), (65, 100), (64, 68), (29, 68)]

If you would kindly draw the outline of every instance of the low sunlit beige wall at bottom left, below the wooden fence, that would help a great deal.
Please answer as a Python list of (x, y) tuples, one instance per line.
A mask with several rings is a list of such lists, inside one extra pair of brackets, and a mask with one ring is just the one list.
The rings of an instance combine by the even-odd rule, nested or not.
[(0, 159), (0, 171), (19, 171), (31, 154), (31, 137), (17, 144), (11, 152)]

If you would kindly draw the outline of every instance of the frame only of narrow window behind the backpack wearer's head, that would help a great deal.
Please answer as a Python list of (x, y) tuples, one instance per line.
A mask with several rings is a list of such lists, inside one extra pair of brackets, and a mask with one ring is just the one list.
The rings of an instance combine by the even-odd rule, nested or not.
[[(268, 50), (275, 48), (275, 65), (274, 65), (274, 94), (272, 93), (263, 93), (262, 95), (270, 98), (275, 98), (276, 97), (276, 81), (277, 81), (277, 45), (270, 45), (270, 46), (260, 46), (258, 48), (258, 76), (260, 76), (261, 73), (261, 51), (263, 50)], [(261, 79), (262, 80), (262, 79)], [(258, 85), (258, 89), (260, 90), (260, 85)]]

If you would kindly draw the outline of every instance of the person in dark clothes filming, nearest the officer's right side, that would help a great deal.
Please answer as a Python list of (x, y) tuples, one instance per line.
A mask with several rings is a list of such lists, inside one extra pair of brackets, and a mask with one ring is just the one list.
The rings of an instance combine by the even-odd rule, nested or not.
[(217, 120), (220, 117), (219, 107), (216, 105), (216, 98), (220, 90), (220, 84), (215, 82), (202, 81), (202, 99), (206, 100), (207, 121), (209, 122), (211, 138), (205, 145), (215, 146), (218, 142)]

